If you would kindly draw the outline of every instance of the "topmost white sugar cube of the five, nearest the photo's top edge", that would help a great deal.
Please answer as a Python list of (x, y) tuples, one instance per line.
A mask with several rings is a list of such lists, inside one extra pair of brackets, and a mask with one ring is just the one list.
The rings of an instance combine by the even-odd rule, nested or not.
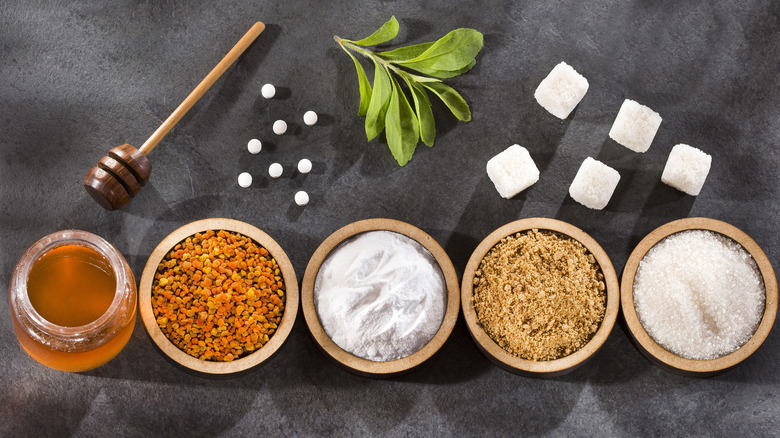
[(550, 114), (565, 119), (588, 91), (588, 80), (572, 66), (561, 62), (534, 92), (536, 101)]

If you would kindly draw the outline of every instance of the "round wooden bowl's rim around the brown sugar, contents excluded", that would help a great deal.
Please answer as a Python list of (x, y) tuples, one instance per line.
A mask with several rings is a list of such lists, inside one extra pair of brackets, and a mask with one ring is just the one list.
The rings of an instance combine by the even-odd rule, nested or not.
[[(601, 326), (593, 335), (590, 341), (581, 349), (560, 359), (549, 361), (534, 361), (521, 359), (508, 353), (499, 346), (490, 335), (485, 332), (477, 318), (477, 312), (474, 309), (474, 289), (473, 281), (476, 270), (485, 255), (504, 237), (514, 235), (518, 232), (532, 229), (554, 231), (556, 233), (568, 236), (580, 242), (593, 255), (604, 274), (604, 285), (606, 286), (607, 302), (604, 313), (604, 320)], [(607, 340), (612, 327), (615, 325), (619, 308), (619, 289), (615, 268), (609, 256), (601, 246), (593, 240), (588, 234), (579, 228), (556, 219), (547, 218), (529, 218), (511, 222), (497, 229), (488, 235), (469, 258), (466, 270), (463, 272), (463, 283), (461, 286), (461, 305), (463, 306), (463, 316), (466, 319), (471, 337), (477, 344), (482, 353), (493, 363), (504, 368), (507, 371), (529, 376), (529, 377), (555, 377), (565, 374), (583, 363), (585, 363)]]

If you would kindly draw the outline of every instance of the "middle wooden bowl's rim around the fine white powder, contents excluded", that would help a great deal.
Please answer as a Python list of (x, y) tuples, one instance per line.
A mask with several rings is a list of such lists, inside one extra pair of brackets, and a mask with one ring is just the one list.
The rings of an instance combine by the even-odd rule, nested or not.
[[(317, 309), (314, 305), (314, 283), (317, 279), (317, 273), (322, 266), (323, 261), (341, 242), (357, 234), (366, 231), (394, 231), (403, 234), (424, 246), (436, 259), (444, 275), (447, 286), (447, 309), (444, 313), (444, 319), (439, 330), (423, 348), (409, 356), (401, 359), (386, 362), (377, 362), (355, 356), (336, 345), (322, 328), (320, 319), (317, 315)], [(391, 377), (411, 371), (428, 360), (434, 353), (439, 351), (444, 342), (452, 333), (455, 321), (458, 319), (458, 276), (455, 268), (450, 261), (449, 256), (436, 241), (421, 229), (392, 219), (366, 219), (351, 223), (333, 234), (331, 234), (317, 248), (309, 260), (306, 267), (306, 273), (303, 276), (301, 286), (301, 306), (303, 307), (303, 316), (306, 319), (306, 325), (309, 327), (312, 337), (317, 346), (325, 353), (327, 357), (335, 361), (342, 368), (352, 373), (366, 377)]]

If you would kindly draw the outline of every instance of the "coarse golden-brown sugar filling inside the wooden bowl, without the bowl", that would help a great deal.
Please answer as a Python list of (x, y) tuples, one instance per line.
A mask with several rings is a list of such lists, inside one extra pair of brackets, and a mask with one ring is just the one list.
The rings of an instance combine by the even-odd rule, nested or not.
[(497, 243), (474, 276), (474, 309), (487, 334), (522, 359), (560, 359), (604, 320), (604, 275), (578, 241), (529, 230)]

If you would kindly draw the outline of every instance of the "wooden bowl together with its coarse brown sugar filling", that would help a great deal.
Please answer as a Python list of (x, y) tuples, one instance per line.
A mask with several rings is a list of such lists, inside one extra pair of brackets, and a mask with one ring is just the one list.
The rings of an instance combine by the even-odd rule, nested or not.
[(604, 344), (620, 304), (617, 275), (601, 246), (555, 219), (522, 219), (487, 236), (463, 273), (469, 332), (498, 366), (554, 377)]

